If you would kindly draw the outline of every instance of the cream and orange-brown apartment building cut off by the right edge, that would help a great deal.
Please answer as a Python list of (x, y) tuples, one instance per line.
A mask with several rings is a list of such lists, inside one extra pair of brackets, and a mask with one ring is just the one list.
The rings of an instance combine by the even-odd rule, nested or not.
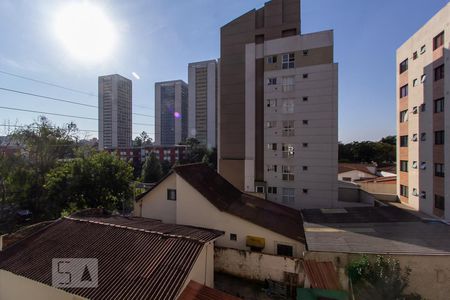
[(450, 5), (397, 50), (397, 192), (401, 202), (450, 219)]

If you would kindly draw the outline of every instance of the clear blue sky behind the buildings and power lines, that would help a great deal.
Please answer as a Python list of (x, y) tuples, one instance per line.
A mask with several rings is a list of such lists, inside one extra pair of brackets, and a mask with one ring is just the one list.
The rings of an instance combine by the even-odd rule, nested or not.
[[(113, 29), (115, 43), (96, 52), (101, 59), (87, 60), (74, 56), (73, 48), (79, 44), (68, 48), (58, 35), (61, 34), (58, 32), (61, 26), (56, 26), (60, 24), (57, 20), (68, 19), (63, 12), (67, 12), (67, 7), (74, 2), (94, 3), (110, 22), (107, 28)], [(220, 27), (253, 8), (262, 7), (264, 2), (0, 0), (0, 124), (30, 124), (41, 115), (37, 112), (96, 119), (98, 111), (95, 107), (55, 102), (1, 89), (96, 106), (98, 76), (118, 73), (133, 80), (133, 112), (147, 115), (133, 115), (134, 123), (146, 124), (133, 125), (134, 135), (146, 131), (153, 136), (154, 83), (174, 79), (187, 81), (188, 63), (220, 56)], [(340, 141), (379, 140), (395, 134), (396, 49), (447, 2), (302, 1), (302, 33), (334, 30), (335, 62), (339, 64)], [(102, 38), (102, 34), (94, 36), (96, 42)], [(87, 46), (89, 48), (90, 45)], [(140, 79), (136, 79), (133, 72)], [(5, 107), (37, 112), (19, 112)], [(96, 120), (47, 117), (55, 125), (73, 121), (81, 130), (98, 129)], [(0, 127), (0, 135), (6, 130)], [(82, 133), (87, 138), (96, 136), (95, 132)]]

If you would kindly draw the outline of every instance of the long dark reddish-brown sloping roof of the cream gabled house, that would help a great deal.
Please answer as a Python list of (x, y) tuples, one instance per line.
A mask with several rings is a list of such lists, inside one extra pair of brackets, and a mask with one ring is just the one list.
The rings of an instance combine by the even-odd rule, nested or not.
[(220, 211), (305, 242), (300, 211), (242, 193), (204, 164), (177, 166), (174, 171)]

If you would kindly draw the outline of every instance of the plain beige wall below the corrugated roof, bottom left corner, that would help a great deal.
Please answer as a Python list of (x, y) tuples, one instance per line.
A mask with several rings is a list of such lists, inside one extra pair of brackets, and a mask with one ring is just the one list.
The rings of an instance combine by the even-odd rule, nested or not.
[(81, 300), (86, 299), (43, 283), (0, 270), (1, 300)]

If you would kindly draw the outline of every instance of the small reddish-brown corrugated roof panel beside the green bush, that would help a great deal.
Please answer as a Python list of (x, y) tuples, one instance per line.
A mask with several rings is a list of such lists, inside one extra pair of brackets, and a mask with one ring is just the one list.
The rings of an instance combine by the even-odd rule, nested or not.
[(339, 277), (332, 262), (303, 262), (306, 276), (314, 289), (340, 290)]

